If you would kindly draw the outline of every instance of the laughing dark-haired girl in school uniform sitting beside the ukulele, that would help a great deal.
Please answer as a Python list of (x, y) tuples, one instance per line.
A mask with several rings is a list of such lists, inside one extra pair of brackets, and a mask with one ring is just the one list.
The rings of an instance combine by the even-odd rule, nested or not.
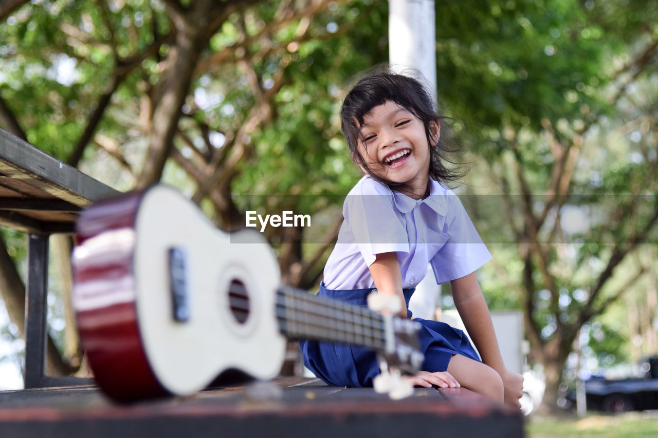
[[(338, 243), (324, 268), (319, 296), (365, 305), (373, 289), (405, 303), (432, 266), (437, 283), (451, 283), (455, 306), (478, 348), (459, 329), (420, 322), (422, 372), (415, 385), (467, 387), (520, 407), (523, 378), (503, 364), (489, 309), (474, 271), (490, 260), (459, 198), (443, 183), (457, 174), (443, 164), (441, 120), (413, 78), (370, 75), (345, 97), (342, 129), (365, 176), (343, 205)], [(372, 386), (375, 353), (338, 343), (301, 341), (304, 363), (326, 383)]]

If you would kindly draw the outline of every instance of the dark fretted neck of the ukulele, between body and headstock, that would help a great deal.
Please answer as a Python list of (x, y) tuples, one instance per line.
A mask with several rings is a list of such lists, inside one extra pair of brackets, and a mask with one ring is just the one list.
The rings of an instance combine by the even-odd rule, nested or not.
[(376, 351), (386, 348), (384, 318), (365, 307), (284, 286), (277, 291), (276, 317), (288, 338), (349, 343)]

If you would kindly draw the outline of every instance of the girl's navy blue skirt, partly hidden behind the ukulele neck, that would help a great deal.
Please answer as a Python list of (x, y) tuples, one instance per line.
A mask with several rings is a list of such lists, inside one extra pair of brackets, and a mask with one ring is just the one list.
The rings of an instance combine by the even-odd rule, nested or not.
[[(367, 296), (372, 289), (326, 289), (320, 285), (318, 297), (328, 297), (357, 306), (367, 306)], [(407, 302), (407, 314), (411, 318), (409, 299), (415, 288), (403, 289)], [(455, 354), (480, 360), (465, 333), (445, 322), (414, 318), (419, 322), (420, 351), (425, 355), (421, 370), (428, 372), (445, 371)], [(304, 357), (304, 365), (329, 385), (364, 387), (372, 386), (372, 379), (379, 374), (379, 361), (376, 353), (365, 347), (325, 341), (299, 341)]]

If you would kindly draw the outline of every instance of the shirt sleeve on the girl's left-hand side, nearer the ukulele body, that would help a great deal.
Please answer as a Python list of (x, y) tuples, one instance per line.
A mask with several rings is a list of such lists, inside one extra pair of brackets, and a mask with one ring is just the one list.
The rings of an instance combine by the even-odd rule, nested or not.
[(409, 253), (403, 218), (386, 185), (364, 178), (345, 198), (343, 216), (368, 266), (381, 253)]

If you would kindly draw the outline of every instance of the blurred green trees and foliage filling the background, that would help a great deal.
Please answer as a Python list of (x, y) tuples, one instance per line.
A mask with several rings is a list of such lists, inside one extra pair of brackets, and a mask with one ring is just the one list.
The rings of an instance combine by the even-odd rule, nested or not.
[[(316, 291), (360, 178), (338, 112), (388, 61), (388, 2), (7, 0), (0, 128), (120, 190), (164, 182), (225, 230), (267, 228)], [(542, 406), (657, 354), (658, 1), (438, 0), (437, 93), (493, 255), (492, 310), (523, 313)], [(0, 230), (0, 389), (21, 387), (26, 236)], [(51, 238), (49, 370), (84, 373), (67, 236)], [(453, 308), (443, 292), (442, 308)], [(81, 370), (82, 368), (82, 370)]]

